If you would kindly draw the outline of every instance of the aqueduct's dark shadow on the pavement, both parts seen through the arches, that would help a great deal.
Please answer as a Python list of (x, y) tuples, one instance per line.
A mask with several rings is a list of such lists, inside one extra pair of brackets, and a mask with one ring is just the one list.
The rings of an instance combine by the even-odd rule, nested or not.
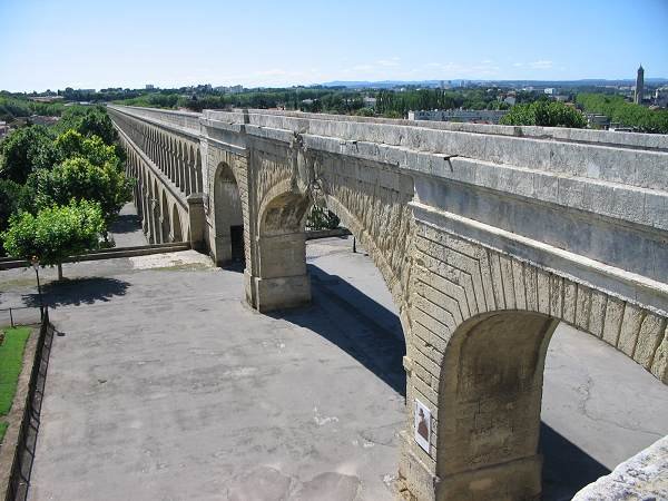
[[(399, 317), (342, 277), (314, 265), (308, 265), (308, 272), (313, 305), (271, 315), (320, 334), (405, 396), (405, 341)], [(544, 423), (540, 450), (544, 461), (542, 499), (547, 501), (570, 500), (584, 485), (610, 472)]]

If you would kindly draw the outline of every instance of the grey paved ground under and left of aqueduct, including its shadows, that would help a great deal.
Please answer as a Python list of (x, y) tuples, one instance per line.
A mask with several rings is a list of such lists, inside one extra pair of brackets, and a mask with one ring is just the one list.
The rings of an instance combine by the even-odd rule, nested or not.
[[(310, 307), (261, 315), (194, 252), (42, 273), (56, 337), (31, 500), (383, 500), (404, 422), (403, 341), (350, 239), (308, 243)], [(0, 273), (0, 304), (35, 303)], [(668, 389), (560, 327), (543, 400), (546, 498), (668, 433)]]

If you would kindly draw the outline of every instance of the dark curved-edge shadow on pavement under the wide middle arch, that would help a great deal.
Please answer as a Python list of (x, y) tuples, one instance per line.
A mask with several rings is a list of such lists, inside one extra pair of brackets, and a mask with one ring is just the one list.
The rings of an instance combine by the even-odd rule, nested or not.
[(269, 316), (323, 336), (405, 396), (402, 358), (406, 347), (399, 317), (338, 275), (330, 275), (314, 265), (308, 265), (308, 273), (312, 305)]

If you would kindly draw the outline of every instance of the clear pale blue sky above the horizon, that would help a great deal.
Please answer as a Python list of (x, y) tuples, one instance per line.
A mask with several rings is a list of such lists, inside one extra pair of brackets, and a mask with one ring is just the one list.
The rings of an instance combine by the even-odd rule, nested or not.
[(0, 0), (0, 89), (668, 78), (668, 0)]

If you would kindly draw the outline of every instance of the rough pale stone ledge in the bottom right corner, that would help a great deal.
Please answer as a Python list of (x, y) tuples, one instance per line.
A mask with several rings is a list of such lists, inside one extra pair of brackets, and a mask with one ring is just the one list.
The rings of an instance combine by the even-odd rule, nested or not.
[(590, 483), (573, 501), (668, 500), (668, 435)]

